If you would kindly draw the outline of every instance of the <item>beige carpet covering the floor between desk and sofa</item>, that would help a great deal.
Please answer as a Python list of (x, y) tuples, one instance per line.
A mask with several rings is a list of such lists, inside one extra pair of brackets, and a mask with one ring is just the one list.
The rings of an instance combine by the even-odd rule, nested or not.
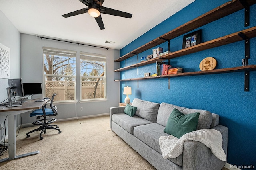
[[(62, 133), (48, 129), (39, 140), (35, 127), (21, 128), (16, 155), (40, 153), (0, 163), (1, 170), (154, 170), (144, 158), (111, 131), (109, 116), (58, 122)], [(18, 133), (18, 131), (17, 131)], [(7, 158), (8, 151), (0, 156)]]

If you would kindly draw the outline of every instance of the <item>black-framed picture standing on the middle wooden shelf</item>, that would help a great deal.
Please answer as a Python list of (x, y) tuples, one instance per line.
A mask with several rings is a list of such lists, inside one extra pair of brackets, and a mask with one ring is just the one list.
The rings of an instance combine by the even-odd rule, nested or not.
[(198, 31), (192, 32), (190, 34), (184, 35), (182, 49), (199, 44), (200, 37), (201, 37), (201, 29), (199, 29)]

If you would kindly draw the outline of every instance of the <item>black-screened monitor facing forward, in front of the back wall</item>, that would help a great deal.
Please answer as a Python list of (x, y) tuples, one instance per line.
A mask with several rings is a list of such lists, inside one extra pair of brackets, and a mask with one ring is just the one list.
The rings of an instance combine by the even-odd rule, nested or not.
[(41, 83), (23, 83), (24, 95), (31, 99), (34, 94), (42, 94)]

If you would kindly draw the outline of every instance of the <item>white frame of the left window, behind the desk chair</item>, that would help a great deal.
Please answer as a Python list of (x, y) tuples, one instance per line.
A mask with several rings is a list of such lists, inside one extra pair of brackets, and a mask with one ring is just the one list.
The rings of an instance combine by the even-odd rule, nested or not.
[[(44, 54), (45, 53), (51, 53), (51, 54), (57, 54), (59, 53), (60, 56), (65, 56), (65, 57), (74, 57), (75, 58), (75, 61), (76, 61), (76, 51), (72, 51), (72, 50), (66, 50), (66, 49), (57, 49), (57, 48), (52, 48), (52, 47), (43, 47), (43, 95), (45, 96), (45, 80), (46, 80), (46, 77), (49, 77), (49, 76), (52, 76), (52, 77), (58, 77), (58, 76), (61, 76), (61, 77), (72, 77), (74, 78), (74, 100), (54, 100), (54, 102), (75, 102), (76, 101), (76, 74), (77, 74), (77, 70), (76, 70), (76, 67), (77, 67), (77, 61), (76, 61), (76, 64), (75, 64), (75, 74), (74, 75), (55, 75), (55, 74), (46, 74), (44, 72)], [(64, 54), (64, 55), (63, 55)]]

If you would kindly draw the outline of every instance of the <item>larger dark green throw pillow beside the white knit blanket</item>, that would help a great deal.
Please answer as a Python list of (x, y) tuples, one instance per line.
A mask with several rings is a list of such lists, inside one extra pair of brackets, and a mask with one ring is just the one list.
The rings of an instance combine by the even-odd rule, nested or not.
[(199, 112), (196, 112), (185, 115), (174, 108), (168, 118), (164, 132), (180, 138), (188, 132), (195, 131), (199, 114)]

